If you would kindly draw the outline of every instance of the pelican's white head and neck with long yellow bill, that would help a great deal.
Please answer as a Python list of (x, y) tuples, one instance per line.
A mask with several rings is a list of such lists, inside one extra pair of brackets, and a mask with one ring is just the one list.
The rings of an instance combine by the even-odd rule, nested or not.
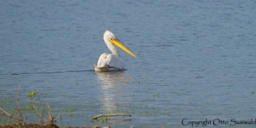
[(122, 44), (122, 42), (120, 42), (120, 40), (118, 40), (116, 36), (110, 31), (105, 31), (103, 39), (106, 45), (108, 46), (109, 50), (116, 56), (119, 56), (119, 52), (117, 51), (115, 45), (137, 58), (137, 56), (133, 54), (124, 44)]

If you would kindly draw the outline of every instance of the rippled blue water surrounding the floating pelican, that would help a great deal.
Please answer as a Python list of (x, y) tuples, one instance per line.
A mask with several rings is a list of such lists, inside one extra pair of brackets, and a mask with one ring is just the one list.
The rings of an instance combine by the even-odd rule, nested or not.
[[(79, 108), (63, 125), (100, 124), (90, 118), (102, 113), (132, 115), (100, 124), (113, 127), (256, 116), (255, 1), (0, 3), (0, 92), (17, 95), (20, 83), (21, 106), (38, 90)], [(106, 29), (138, 56), (118, 49), (123, 72), (93, 72), (110, 52)]]

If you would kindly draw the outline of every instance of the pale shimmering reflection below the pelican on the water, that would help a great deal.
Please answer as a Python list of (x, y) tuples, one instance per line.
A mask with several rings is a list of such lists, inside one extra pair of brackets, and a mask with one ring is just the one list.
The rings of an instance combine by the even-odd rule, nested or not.
[(117, 111), (120, 104), (129, 102), (131, 95), (131, 74), (125, 72), (95, 72), (97, 83), (100, 84), (98, 95), (106, 111)]

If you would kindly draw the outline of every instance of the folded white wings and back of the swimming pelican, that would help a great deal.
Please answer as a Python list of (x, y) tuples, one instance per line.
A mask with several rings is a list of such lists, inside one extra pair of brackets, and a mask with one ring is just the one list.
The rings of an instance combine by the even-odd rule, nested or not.
[(124, 68), (124, 61), (114, 54), (103, 53), (99, 58), (97, 67), (118, 68), (119, 70), (122, 70)]

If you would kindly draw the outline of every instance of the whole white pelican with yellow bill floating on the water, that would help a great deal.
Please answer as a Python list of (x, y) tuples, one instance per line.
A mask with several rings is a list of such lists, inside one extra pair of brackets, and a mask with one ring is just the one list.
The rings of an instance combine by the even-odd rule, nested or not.
[(124, 70), (124, 61), (122, 58), (120, 58), (119, 52), (117, 51), (115, 45), (137, 58), (137, 56), (133, 54), (124, 44), (122, 44), (122, 42), (120, 42), (120, 40), (118, 40), (110, 31), (105, 31), (103, 39), (112, 54), (103, 53), (100, 55), (97, 65), (94, 65), (95, 72)]

